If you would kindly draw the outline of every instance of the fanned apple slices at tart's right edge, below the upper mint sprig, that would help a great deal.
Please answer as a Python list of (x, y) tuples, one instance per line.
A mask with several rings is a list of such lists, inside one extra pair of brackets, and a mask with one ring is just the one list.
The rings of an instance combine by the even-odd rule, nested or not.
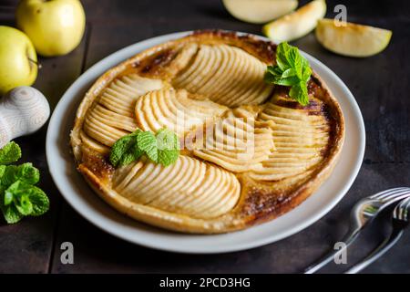
[(323, 102), (312, 99), (307, 108), (279, 95), (266, 103), (259, 120), (272, 120), (276, 151), (253, 168), (253, 179), (278, 181), (308, 172), (323, 162), (329, 143), (329, 120)]

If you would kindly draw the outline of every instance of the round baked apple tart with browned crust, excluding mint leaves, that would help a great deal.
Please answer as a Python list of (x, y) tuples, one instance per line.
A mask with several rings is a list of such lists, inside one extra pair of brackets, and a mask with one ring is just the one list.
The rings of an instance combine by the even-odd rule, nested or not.
[[(109, 69), (77, 110), (78, 171), (119, 212), (179, 232), (226, 233), (292, 210), (332, 172), (344, 120), (314, 72), (306, 106), (264, 82), (275, 50), (256, 36), (198, 31)], [(177, 162), (110, 164), (118, 139), (162, 128), (179, 136)]]

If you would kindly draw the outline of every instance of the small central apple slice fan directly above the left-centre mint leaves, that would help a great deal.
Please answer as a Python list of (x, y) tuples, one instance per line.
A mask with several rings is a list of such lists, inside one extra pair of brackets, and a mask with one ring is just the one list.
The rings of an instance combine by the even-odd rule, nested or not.
[(185, 89), (150, 91), (138, 99), (135, 109), (139, 129), (157, 132), (168, 128), (179, 136), (226, 110), (227, 107), (192, 95)]

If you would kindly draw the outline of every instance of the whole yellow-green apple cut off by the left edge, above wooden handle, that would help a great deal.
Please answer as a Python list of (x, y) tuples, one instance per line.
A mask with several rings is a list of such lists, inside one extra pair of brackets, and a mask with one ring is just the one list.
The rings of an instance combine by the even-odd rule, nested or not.
[(30, 86), (37, 77), (37, 55), (23, 32), (0, 26), (0, 95), (17, 86)]

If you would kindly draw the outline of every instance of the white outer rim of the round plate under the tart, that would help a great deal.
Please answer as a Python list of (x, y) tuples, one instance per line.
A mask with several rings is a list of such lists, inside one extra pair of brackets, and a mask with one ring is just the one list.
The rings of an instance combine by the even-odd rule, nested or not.
[[(109, 63), (119, 64), (121, 62), (121, 60), (127, 59), (128, 57), (124, 57), (124, 55), (127, 55), (128, 51), (135, 50), (133, 52), (133, 54), (135, 55), (140, 51), (140, 50), (137, 49), (137, 47), (144, 47), (144, 46), (152, 47), (152, 46), (155, 46), (155, 45), (152, 45), (152, 43), (155, 44), (156, 42), (159, 42), (159, 43), (165, 42), (165, 41), (168, 41), (168, 40), (171, 40), (171, 39), (176, 39), (176, 38), (179, 38), (179, 37), (182, 37), (182, 36), (189, 35), (190, 33), (192, 33), (192, 31), (177, 32), (177, 33), (171, 33), (171, 34), (166, 34), (166, 35), (162, 35), (162, 36), (150, 37), (150, 38), (138, 41), (138, 42), (136, 42), (132, 45), (129, 45), (127, 47), (123, 47), (123, 48), (119, 49), (118, 51), (116, 51), (112, 54), (109, 54), (107, 57), (104, 57), (101, 60), (99, 60), (96, 64), (94, 64), (93, 66), (88, 68), (83, 74), (81, 74), (70, 85), (70, 87), (65, 91), (65, 93), (63, 94), (61, 99), (59, 99), (59, 101), (56, 105), (56, 108), (52, 113), (52, 116), (50, 118), (50, 121), (49, 121), (49, 124), (48, 124), (48, 127), (47, 127), (47, 131), (46, 131), (46, 162), (47, 162), (47, 166), (48, 166), (50, 175), (51, 175), (54, 183), (56, 184), (56, 188), (61, 193), (61, 195), (64, 197), (66, 202), (69, 203), (69, 205), (74, 210), (76, 210), (76, 212), (78, 214), (80, 214), (83, 218), (85, 218), (89, 223), (97, 226), (99, 229), (107, 232), (110, 235), (114, 235), (114, 236), (116, 236), (116, 237), (118, 237), (122, 240), (128, 241), (129, 243), (142, 245), (142, 246), (146, 246), (146, 247), (154, 248), (154, 249), (158, 249), (158, 250), (163, 250), (163, 251), (177, 252), (177, 253), (181, 253), (181, 254), (219, 254), (219, 253), (235, 252), (235, 251), (241, 251), (241, 250), (247, 250), (247, 249), (259, 247), (261, 245), (272, 244), (276, 241), (282, 240), (286, 237), (289, 237), (291, 235), (295, 235), (295, 234), (299, 233), (303, 229), (307, 228), (308, 226), (310, 226), (310, 225), (314, 224), (315, 222), (317, 222), (318, 220), (320, 220), (325, 214), (328, 214), (333, 209), (333, 207), (343, 199), (344, 195), (348, 192), (348, 190), (350, 189), (350, 187), (354, 183), (354, 180), (356, 179), (357, 174), (361, 169), (361, 166), (362, 166), (362, 163), (363, 163), (363, 160), (364, 160), (364, 150), (365, 150), (364, 120), (363, 120), (363, 115), (361, 113), (361, 110), (360, 110), (360, 108), (357, 104), (357, 101), (354, 99), (354, 95), (352, 94), (350, 89), (348, 89), (347, 86), (344, 84), (343, 80), (341, 78), (339, 78), (333, 72), (333, 70), (331, 70), (330, 68), (325, 66), (317, 58), (315, 58), (315, 57), (313, 57), (313, 56), (311, 56), (311, 55), (309, 55), (305, 52), (302, 52), (302, 54), (305, 55), (306, 57), (310, 58), (311, 60), (313, 60), (313, 62), (316, 63), (317, 66), (321, 67), (321, 69), (324, 70), (328, 76), (332, 77), (333, 80), (337, 83), (337, 85), (341, 89), (343, 89), (343, 92), (345, 92), (346, 96), (348, 96), (348, 101), (350, 103), (350, 106), (354, 109), (354, 114), (356, 115), (356, 118), (359, 121), (359, 124), (357, 125), (359, 136), (360, 136), (359, 141), (358, 141), (359, 150), (358, 150), (357, 159), (354, 161), (354, 167), (352, 169), (352, 172), (349, 175), (349, 178), (348, 178), (347, 182), (344, 183), (343, 188), (339, 190), (338, 195), (333, 196), (332, 199), (330, 199), (330, 202), (325, 204), (320, 212), (318, 212), (316, 214), (313, 214), (311, 216), (308, 216), (308, 218), (305, 221), (303, 221), (302, 223), (300, 223), (300, 224), (298, 224), (298, 225), (296, 225), (292, 228), (289, 228), (286, 231), (283, 231), (282, 234), (280, 234), (280, 235), (271, 235), (271, 236), (266, 236), (266, 237), (263, 237), (263, 238), (257, 238), (257, 239), (254, 239), (251, 242), (237, 243), (236, 245), (233, 245), (231, 247), (230, 246), (213, 245), (212, 248), (210, 248), (210, 246), (208, 246), (207, 248), (190, 247), (188, 249), (187, 249), (186, 246), (181, 248), (178, 245), (166, 245), (166, 244), (160, 244), (158, 242), (147, 242), (146, 240), (135, 240), (135, 238), (133, 239), (133, 238), (131, 238), (131, 236), (123, 235), (120, 232), (116, 232), (116, 231), (112, 230), (113, 229), (112, 227), (107, 227), (107, 226), (104, 226), (101, 223), (98, 223), (97, 218), (93, 217), (93, 215), (87, 214), (86, 212), (83, 212), (82, 208), (75, 203), (75, 200), (73, 198), (70, 198), (70, 195), (66, 193), (68, 191), (65, 190), (64, 186), (62, 185), (63, 183), (59, 182), (59, 180), (57, 179), (55, 171), (52, 171), (54, 169), (52, 167), (53, 166), (52, 160), (53, 160), (53, 155), (55, 155), (53, 153), (54, 150), (52, 149), (53, 147), (55, 147), (55, 145), (53, 143), (54, 141), (52, 140), (53, 139), (52, 133), (53, 133), (53, 130), (56, 131), (56, 130), (59, 130), (61, 128), (61, 122), (58, 123), (56, 121), (57, 118), (58, 118), (57, 113), (59, 113), (61, 111), (61, 108), (63, 108), (63, 112), (64, 112), (64, 106), (67, 108), (67, 106), (69, 106), (73, 102), (73, 99), (76, 99), (77, 94), (78, 94), (78, 90), (80, 89), (80, 84), (82, 82), (87, 82), (87, 81), (84, 81), (84, 80), (87, 80), (88, 76), (93, 76), (93, 73), (95, 73), (95, 71), (101, 71), (101, 70), (105, 71), (104, 66), (106, 64), (109, 64)], [(242, 33), (242, 32), (236, 32), (236, 33), (256, 36), (256, 37), (259, 37), (259, 38), (264, 39), (264, 40), (269, 40), (266, 37), (252, 35), (252, 34), (249, 34), (249, 33)], [(120, 60), (118, 61), (117, 59), (120, 59)], [(116, 60), (116, 61), (114, 62), (114, 60)], [(102, 73), (104, 73), (104, 71)], [(102, 73), (98, 74), (98, 76), (101, 75)], [(93, 80), (95, 80), (95, 78), (93, 78)], [(77, 92), (77, 94), (76, 94), (76, 92)], [(65, 110), (67, 110), (67, 109), (65, 109)], [(344, 113), (343, 113), (343, 115), (344, 115)], [(67, 127), (67, 125), (66, 125), (66, 127)], [(72, 163), (74, 164), (74, 158), (72, 160)], [(317, 192), (317, 191), (315, 191), (315, 192)], [(109, 207), (112, 208), (111, 206), (109, 206)], [(113, 208), (113, 211), (117, 212), (114, 208)], [(290, 211), (290, 212), (292, 212), (292, 211)], [(101, 215), (104, 216), (104, 214), (101, 214)], [(126, 215), (123, 215), (123, 216), (126, 216)], [(106, 219), (110, 220), (108, 217), (106, 217)], [(271, 221), (271, 223), (273, 221)], [(254, 227), (251, 227), (251, 228), (254, 228)], [(251, 229), (251, 228), (249, 228), (249, 229)], [(248, 230), (248, 229), (246, 229), (246, 230)], [(242, 232), (246, 232), (246, 230), (244, 230)], [(230, 234), (226, 234), (226, 235), (230, 235)], [(213, 236), (213, 235), (203, 235), (203, 236)]]

